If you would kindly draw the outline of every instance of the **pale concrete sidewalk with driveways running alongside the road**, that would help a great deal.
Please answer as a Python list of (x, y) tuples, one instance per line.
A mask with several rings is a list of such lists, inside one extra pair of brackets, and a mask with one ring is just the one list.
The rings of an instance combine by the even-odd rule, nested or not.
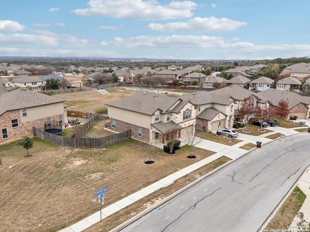
[[(310, 125), (310, 120), (303, 120), (303, 121), (307, 121), (307, 125)], [(295, 129), (298, 128), (305, 128), (305, 127), (298, 127), (298, 124), (296, 124), (296, 128), (291, 128), (291, 129), (285, 129), (285, 128), (281, 128), (281, 127), (269, 127), (268, 130), (271, 130), (272, 132), (260, 135), (260, 136), (252, 136), (252, 135), (248, 135), (248, 134), (243, 134), (243, 133), (239, 133), (239, 140), (242, 140), (242, 142), (236, 144), (236, 145), (223, 145), (223, 144), (219, 144), (216, 142), (212, 142), (209, 140), (203, 140), (202, 143), (196, 145), (197, 147), (200, 147), (202, 149), (207, 149), (207, 150), (211, 150), (216, 152), (216, 154), (204, 159), (204, 160), (200, 160), (182, 170), (179, 170), (176, 173), (173, 173), (153, 184), (151, 184), (150, 186), (147, 186), (145, 188), (140, 189), (139, 191), (125, 197), (124, 199), (115, 202), (111, 205), (109, 205), (108, 207), (105, 207), (102, 209), (102, 214), (101, 217), (102, 219), (109, 217), (110, 215), (116, 213), (117, 211), (123, 209), (124, 207), (142, 199), (143, 197), (155, 192), (156, 190), (160, 189), (160, 188), (165, 188), (169, 185), (171, 185), (175, 180), (185, 176), (186, 174), (189, 174), (199, 168), (201, 168), (202, 166), (220, 158), (221, 156), (227, 156), (229, 158), (231, 158), (232, 160), (235, 160), (237, 158), (239, 158), (240, 156), (248, 153), (247, 150), (241, 149), (240, 147), (251, 143), (256, 145), (257, 141), (262, 142), (262, 144), (268, 143), (273, 141), (272, 139), (268, 139), (268, 138), (264, 138), (265, 136), (268, 136), (270, 134), (275, 134), (275, 133), (281, 133), (284, 135), (292, 135), (292, 134), (296, 134), (296, 133), (300, 133), (298, 131), (294, 131)], [(228, 139), (228, 138), (223, 138), (223, 139)], [(310, 201), (310, 174), (307, 173), (307, 175), (303, 176), (301, 178), (301, 180), (299, 181), (299, 184), (301, 186), (299, 186), (299, 188), (303, 188), (302, 190), (304, 191), (305, 189), (305, 194), (307, 196), (309, 196), (307, 199)], [(308, 188), (308, 190), (306, 189)], [(304, 205), (306, 204), (306, 202), (304, 203)], [(308, 207), (307, 207), (308, 206)], [(304, 218), (307, 220), (309, 218), (310, 221), (310, 203), (307, 204), (307, 206), (305, 206), (304, 208), (302, 207), (302, 209), (300, 209), (301, 212), (304, 213)], [(86, 217), (80, 221), (78, 221), (77, 223), (64, 228), (63, 230), (61, 230), (60, 232), (81, 232), (89, 227), (91, 227), (93, 224), (100, 222), (100, 211), (94, 213), (93, 215)]]

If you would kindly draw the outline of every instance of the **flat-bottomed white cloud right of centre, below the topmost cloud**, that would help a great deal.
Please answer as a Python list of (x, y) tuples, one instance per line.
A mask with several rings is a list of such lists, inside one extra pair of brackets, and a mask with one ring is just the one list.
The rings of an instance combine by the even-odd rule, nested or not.
[(210, 32), (210, 31), (232, 31), (241, 26), (246, 26), (247, 23), (234, 21), (228, 18), (201, 18), (196, 17), (188, 20), (187, 22), (175, 22), (167, 24), (150, 23), (148, 28), (159, 31), (197, 31), (197, 32)]

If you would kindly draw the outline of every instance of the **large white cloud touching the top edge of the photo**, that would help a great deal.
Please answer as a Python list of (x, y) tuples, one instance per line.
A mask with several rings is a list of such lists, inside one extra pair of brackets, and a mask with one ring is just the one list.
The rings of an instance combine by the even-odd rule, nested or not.
[(192, 1), (171, 1), (168, 5), (159, 5), (156, 1), (143, 0), (90, 0), (89, 8), (76, 9), (72, 13), (102, 17), (162, 20), (189, 18), (191, 10), (197, 4)]

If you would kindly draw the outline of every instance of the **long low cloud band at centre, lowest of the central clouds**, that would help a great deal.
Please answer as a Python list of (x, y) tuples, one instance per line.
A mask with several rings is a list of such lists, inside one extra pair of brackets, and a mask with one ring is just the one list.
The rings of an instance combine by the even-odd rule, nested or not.
[(114, 38), (111, 42), (102, 42), (102, 45), (113, 45), (117, 47), (156, 48), (156, 49), (203, 49), (212, 46), (224, 45), (221, 37), (192, 36), (192, 35), (172, 35), (172, 36), (137, 36), (129, 39), (120, 37)]

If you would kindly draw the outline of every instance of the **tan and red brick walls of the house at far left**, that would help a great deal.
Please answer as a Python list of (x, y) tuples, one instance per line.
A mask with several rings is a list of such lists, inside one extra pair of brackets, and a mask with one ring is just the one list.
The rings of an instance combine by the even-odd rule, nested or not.
[[(0, 135), (1, 135), (0, 144), (20, 139), (23, 136), (33, 135), (32, 127), (45, 130), (44, 125), (47, 124), (47, 118), (51, 119), (52, 126), (49, 128), (53, 128), (53, 125), (59, 125), (59, 116), (62, 116), (62, 126), (63, 126), (64, 125), (63, 115), (50, 116), (22, 123), (20, 121), (20, 110), (7, 111), (0, 116)], [(18, 126), (13, 128), (12, 120), (14, 119), (18, 120)], [(7, 129), (8, 137), (5, 139), (3, 139), (2, 129)], [(48, 127), (46, 129), (48, 129)]]

